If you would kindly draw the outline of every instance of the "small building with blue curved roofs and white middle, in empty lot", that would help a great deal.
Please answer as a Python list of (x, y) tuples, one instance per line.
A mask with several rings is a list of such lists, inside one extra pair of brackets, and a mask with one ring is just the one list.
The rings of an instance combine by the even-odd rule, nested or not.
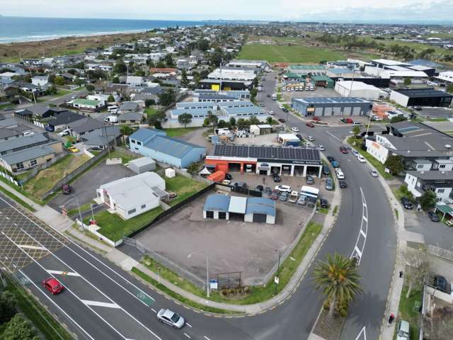
[(237, 216), (244, 222), (258, 222), (275, 225), (275, 201), (270, 198), (239, 197), (212, 194), (207, 196), (203, 217), (213, 220), (229, 220)]

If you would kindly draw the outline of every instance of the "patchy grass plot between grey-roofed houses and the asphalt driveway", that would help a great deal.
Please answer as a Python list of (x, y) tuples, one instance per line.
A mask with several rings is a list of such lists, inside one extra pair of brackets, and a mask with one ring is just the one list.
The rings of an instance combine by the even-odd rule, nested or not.
[(67, 154), (67, 156), (59, 159), (55, 164), (40, 171), (38, 175), (25, 183), (23, 188), (27, 193), (30, 193), (30, 195), (40, 199), (43, 194), (52, 189), (57, 181), (60, 181), (64, 176), (67, 176), (67, 174), (70, 174), (79, 166), (87, 162), (88, 159), (90, 159), (90, 157), (85, 154), (77, 156), (74, 154)]

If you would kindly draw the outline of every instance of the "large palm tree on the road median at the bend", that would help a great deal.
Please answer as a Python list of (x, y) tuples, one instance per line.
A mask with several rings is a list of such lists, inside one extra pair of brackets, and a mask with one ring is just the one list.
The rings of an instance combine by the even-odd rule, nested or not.
[(336, 307), (347, 307), (355, 295), (362, 293), (356, 262), (340, 254), (329, 254), (313, 271), (316, 289), (322, 289), (329, 305), (329, 317)]

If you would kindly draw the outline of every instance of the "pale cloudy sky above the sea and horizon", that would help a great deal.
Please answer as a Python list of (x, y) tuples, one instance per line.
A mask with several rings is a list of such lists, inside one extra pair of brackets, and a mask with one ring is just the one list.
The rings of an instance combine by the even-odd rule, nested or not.
[(453, 22), (452, 0), (0, 0), (0, 14), (188, 21)]

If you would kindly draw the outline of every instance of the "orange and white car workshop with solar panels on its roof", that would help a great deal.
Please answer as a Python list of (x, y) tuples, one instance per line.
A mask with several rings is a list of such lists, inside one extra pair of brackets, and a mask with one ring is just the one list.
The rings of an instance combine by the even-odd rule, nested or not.
[(249, 145), (214, 145), (206, 164), (225, 172), (248, 171), (253, 174), (279, 174), (321, 177), (319, 149), (304, 147), (256, 147)]

